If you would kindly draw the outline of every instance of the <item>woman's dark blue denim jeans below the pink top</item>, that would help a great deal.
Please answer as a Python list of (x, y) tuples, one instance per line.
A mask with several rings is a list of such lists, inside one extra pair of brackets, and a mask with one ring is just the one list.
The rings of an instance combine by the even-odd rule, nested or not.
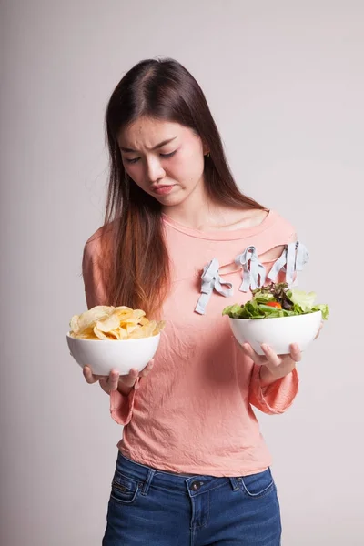
[(117, 457), (103, 546), (279, 546), (280, 535), (269, 469), (192, 477)]

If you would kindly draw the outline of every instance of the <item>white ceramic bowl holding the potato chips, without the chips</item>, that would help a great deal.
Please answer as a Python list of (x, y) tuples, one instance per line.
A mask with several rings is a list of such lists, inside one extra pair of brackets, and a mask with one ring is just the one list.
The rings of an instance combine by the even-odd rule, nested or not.
[(157, 352), (160, 333), (157, 336), (141, 339), (77, 339), (66, 334), (71, 356), (83, 368), (91, 367), (96, 375), (108, 375), (117, 369), (121, 375), (136, 368), (139, 371), (147, 366)]

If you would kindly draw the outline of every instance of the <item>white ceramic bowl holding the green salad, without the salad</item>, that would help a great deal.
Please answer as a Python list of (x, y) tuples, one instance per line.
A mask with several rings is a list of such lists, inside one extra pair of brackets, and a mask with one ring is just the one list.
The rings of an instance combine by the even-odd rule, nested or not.
[(301, 350), (315, 339), (321, 323), (321, 311), (276, 319), (229, 319), (235, 338), (240, 345), (250, 343), (263, 355), (260, 345), (266, 343), (278, 355), (289, 353), (289, 345), (298, 343)]

